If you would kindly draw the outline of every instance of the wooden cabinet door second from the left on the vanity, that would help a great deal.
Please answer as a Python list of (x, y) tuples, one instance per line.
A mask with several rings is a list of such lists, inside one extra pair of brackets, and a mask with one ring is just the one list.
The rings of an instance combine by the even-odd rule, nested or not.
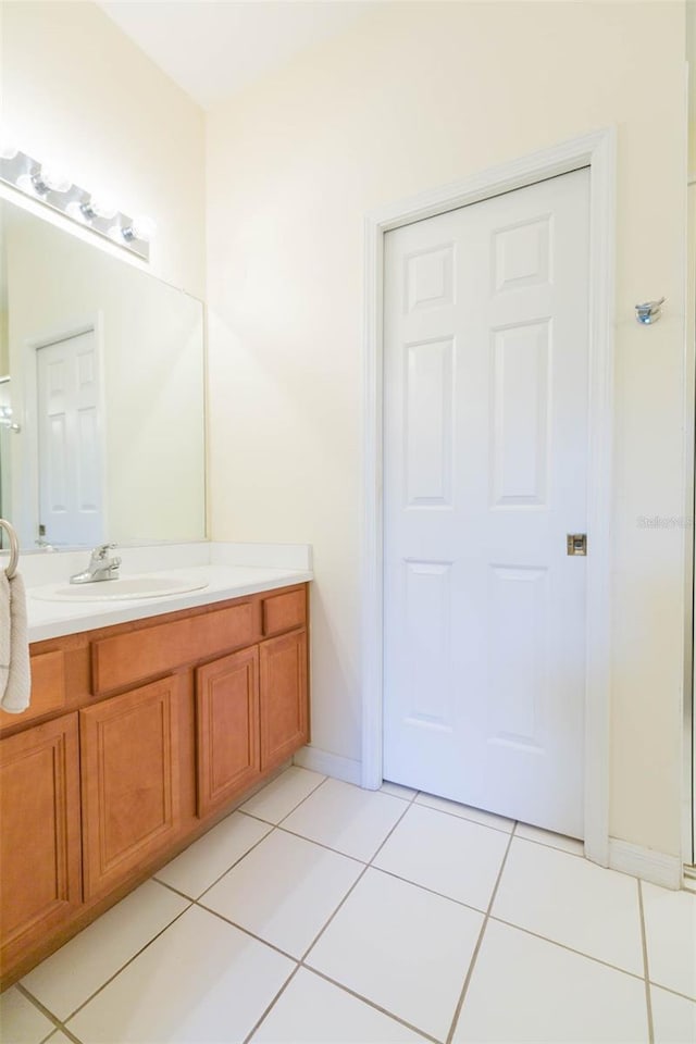
[(79, 711), (85, 894), (147, 866), (179, 824), (178, 680)]

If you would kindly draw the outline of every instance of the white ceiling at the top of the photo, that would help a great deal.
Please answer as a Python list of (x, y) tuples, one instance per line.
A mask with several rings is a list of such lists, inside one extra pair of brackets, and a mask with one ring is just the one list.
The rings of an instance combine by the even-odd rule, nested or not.
[(97, 0), (204, 109), (385, 0)]

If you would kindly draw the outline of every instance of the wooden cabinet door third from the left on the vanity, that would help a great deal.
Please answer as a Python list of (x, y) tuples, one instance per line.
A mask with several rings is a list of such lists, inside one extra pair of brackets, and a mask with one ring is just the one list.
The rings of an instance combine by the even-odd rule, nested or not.
[(196, 671), (198, 815), (250, 786), (260, 773), (256, 646)]

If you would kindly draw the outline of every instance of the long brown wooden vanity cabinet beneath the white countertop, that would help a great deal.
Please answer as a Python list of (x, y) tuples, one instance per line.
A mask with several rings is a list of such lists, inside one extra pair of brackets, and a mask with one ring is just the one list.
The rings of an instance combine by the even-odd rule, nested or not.
[(32, 643), (30, 707), (0, 712), (2, 985), (308, 742), (311, 574), (276, 573), (173, 611), (111, 606), (89, 630), (71, 606), (62, 633)]

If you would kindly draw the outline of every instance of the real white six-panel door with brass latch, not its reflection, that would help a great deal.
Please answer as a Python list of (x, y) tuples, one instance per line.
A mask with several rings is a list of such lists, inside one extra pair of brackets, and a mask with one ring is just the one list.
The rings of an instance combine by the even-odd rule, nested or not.
[(385, 236), (384, 778), (577, 837), (588, 207), (583, 170)]

